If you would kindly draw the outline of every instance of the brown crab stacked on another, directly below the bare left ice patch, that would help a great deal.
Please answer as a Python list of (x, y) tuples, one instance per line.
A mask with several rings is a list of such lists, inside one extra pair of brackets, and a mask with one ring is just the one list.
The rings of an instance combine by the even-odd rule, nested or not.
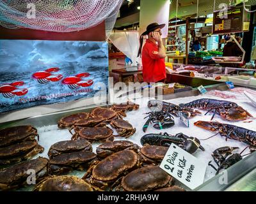
[(66, 140), (51, 145), (48, 156), (52, 158), (63, 153), (87, 151), (92, 152), (92, 145), (88, 140)]

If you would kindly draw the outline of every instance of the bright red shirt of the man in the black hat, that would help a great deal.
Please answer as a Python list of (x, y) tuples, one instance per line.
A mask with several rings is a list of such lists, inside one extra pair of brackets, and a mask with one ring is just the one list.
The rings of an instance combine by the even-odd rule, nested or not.
[(147, 40), (142, 50), (142, 68), (144, 82), (158, 82), (166, 78), (164, 58), (153, 52), (158, 52), (158, 45)]

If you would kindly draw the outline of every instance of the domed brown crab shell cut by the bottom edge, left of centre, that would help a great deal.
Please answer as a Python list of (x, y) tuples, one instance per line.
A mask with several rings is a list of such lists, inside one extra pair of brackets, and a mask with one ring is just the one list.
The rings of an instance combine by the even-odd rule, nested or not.
[(90, 184), (76, 176), (51, 176), (38, 183), (33, 191), (93, 191)]

